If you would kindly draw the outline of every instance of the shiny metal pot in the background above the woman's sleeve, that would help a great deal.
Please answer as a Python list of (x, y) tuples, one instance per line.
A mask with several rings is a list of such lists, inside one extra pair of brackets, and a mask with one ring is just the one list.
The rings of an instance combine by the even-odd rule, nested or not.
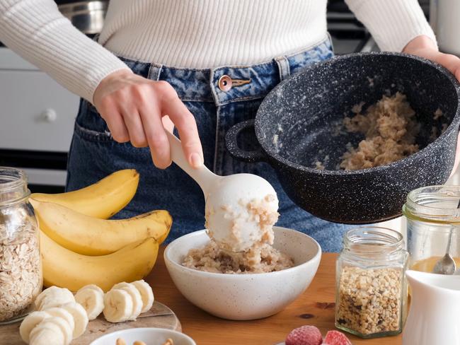
[(103, 28), (108, 1), (79, 1), (58, 8), (82, 33), (94, 35)]

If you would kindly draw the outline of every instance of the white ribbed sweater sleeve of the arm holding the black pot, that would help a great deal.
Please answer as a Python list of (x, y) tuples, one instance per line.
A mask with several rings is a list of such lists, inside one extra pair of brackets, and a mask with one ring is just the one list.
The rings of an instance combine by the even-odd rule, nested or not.
[(369, 29), (381, 50), (401, 52), (420, 35), (436, 42), (417, 0), (345, 0), (350, 10)]

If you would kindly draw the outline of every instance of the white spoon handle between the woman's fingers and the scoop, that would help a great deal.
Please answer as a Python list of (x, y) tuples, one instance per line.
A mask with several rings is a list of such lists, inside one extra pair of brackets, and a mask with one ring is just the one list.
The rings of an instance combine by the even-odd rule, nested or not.
[(220, 178), (219, 175), (214, 174), (211, 170), (202, 165), (200, 168), (192, 168), (188, 163), (187, 158), (184, 156), (182, 143), (177, 136), (166, 130), (168, 136), (169, 146), (171, 148), (171, 160), (176, 163), (179, 168), (187, 172), (198, 185), (200, 185), (205, 198), (209, 192), (210, 187)]

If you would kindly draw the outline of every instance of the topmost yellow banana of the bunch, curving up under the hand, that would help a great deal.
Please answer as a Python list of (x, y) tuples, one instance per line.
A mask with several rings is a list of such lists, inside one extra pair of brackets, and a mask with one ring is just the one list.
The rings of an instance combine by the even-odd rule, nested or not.
[(33, 193), (30, 202), (54, 202), (81, 214), (107, 219), (123, 209), (136, 194), (139, 172), (134, 169), (113, 172), (94, 185), (60, 194)]

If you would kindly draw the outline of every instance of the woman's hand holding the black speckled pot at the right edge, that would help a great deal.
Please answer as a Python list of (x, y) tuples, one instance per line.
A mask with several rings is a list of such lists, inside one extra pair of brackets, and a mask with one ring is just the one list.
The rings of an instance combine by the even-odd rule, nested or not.
[[(449, 69), (452, 74), (460, 81), (460, 59), (452, 54), (444, 54), (439, 52), (435, 42), (431, 40), (428, 36), (418, 36), (411, 40), (408, 45), (403, 49), (404, 53), (418, 55), (419, 57), (425, 57), (426, 59), (430, 59), (438, 64), (444, 66), (445, 68)], [(460, 134), (459, 138), (456, 142), (456, 155), (455, 155), (455, 163), (454, 163), (454, 170), (452, 170), (452, 174), (456, 171), (457, 166), (460, 162)]]

